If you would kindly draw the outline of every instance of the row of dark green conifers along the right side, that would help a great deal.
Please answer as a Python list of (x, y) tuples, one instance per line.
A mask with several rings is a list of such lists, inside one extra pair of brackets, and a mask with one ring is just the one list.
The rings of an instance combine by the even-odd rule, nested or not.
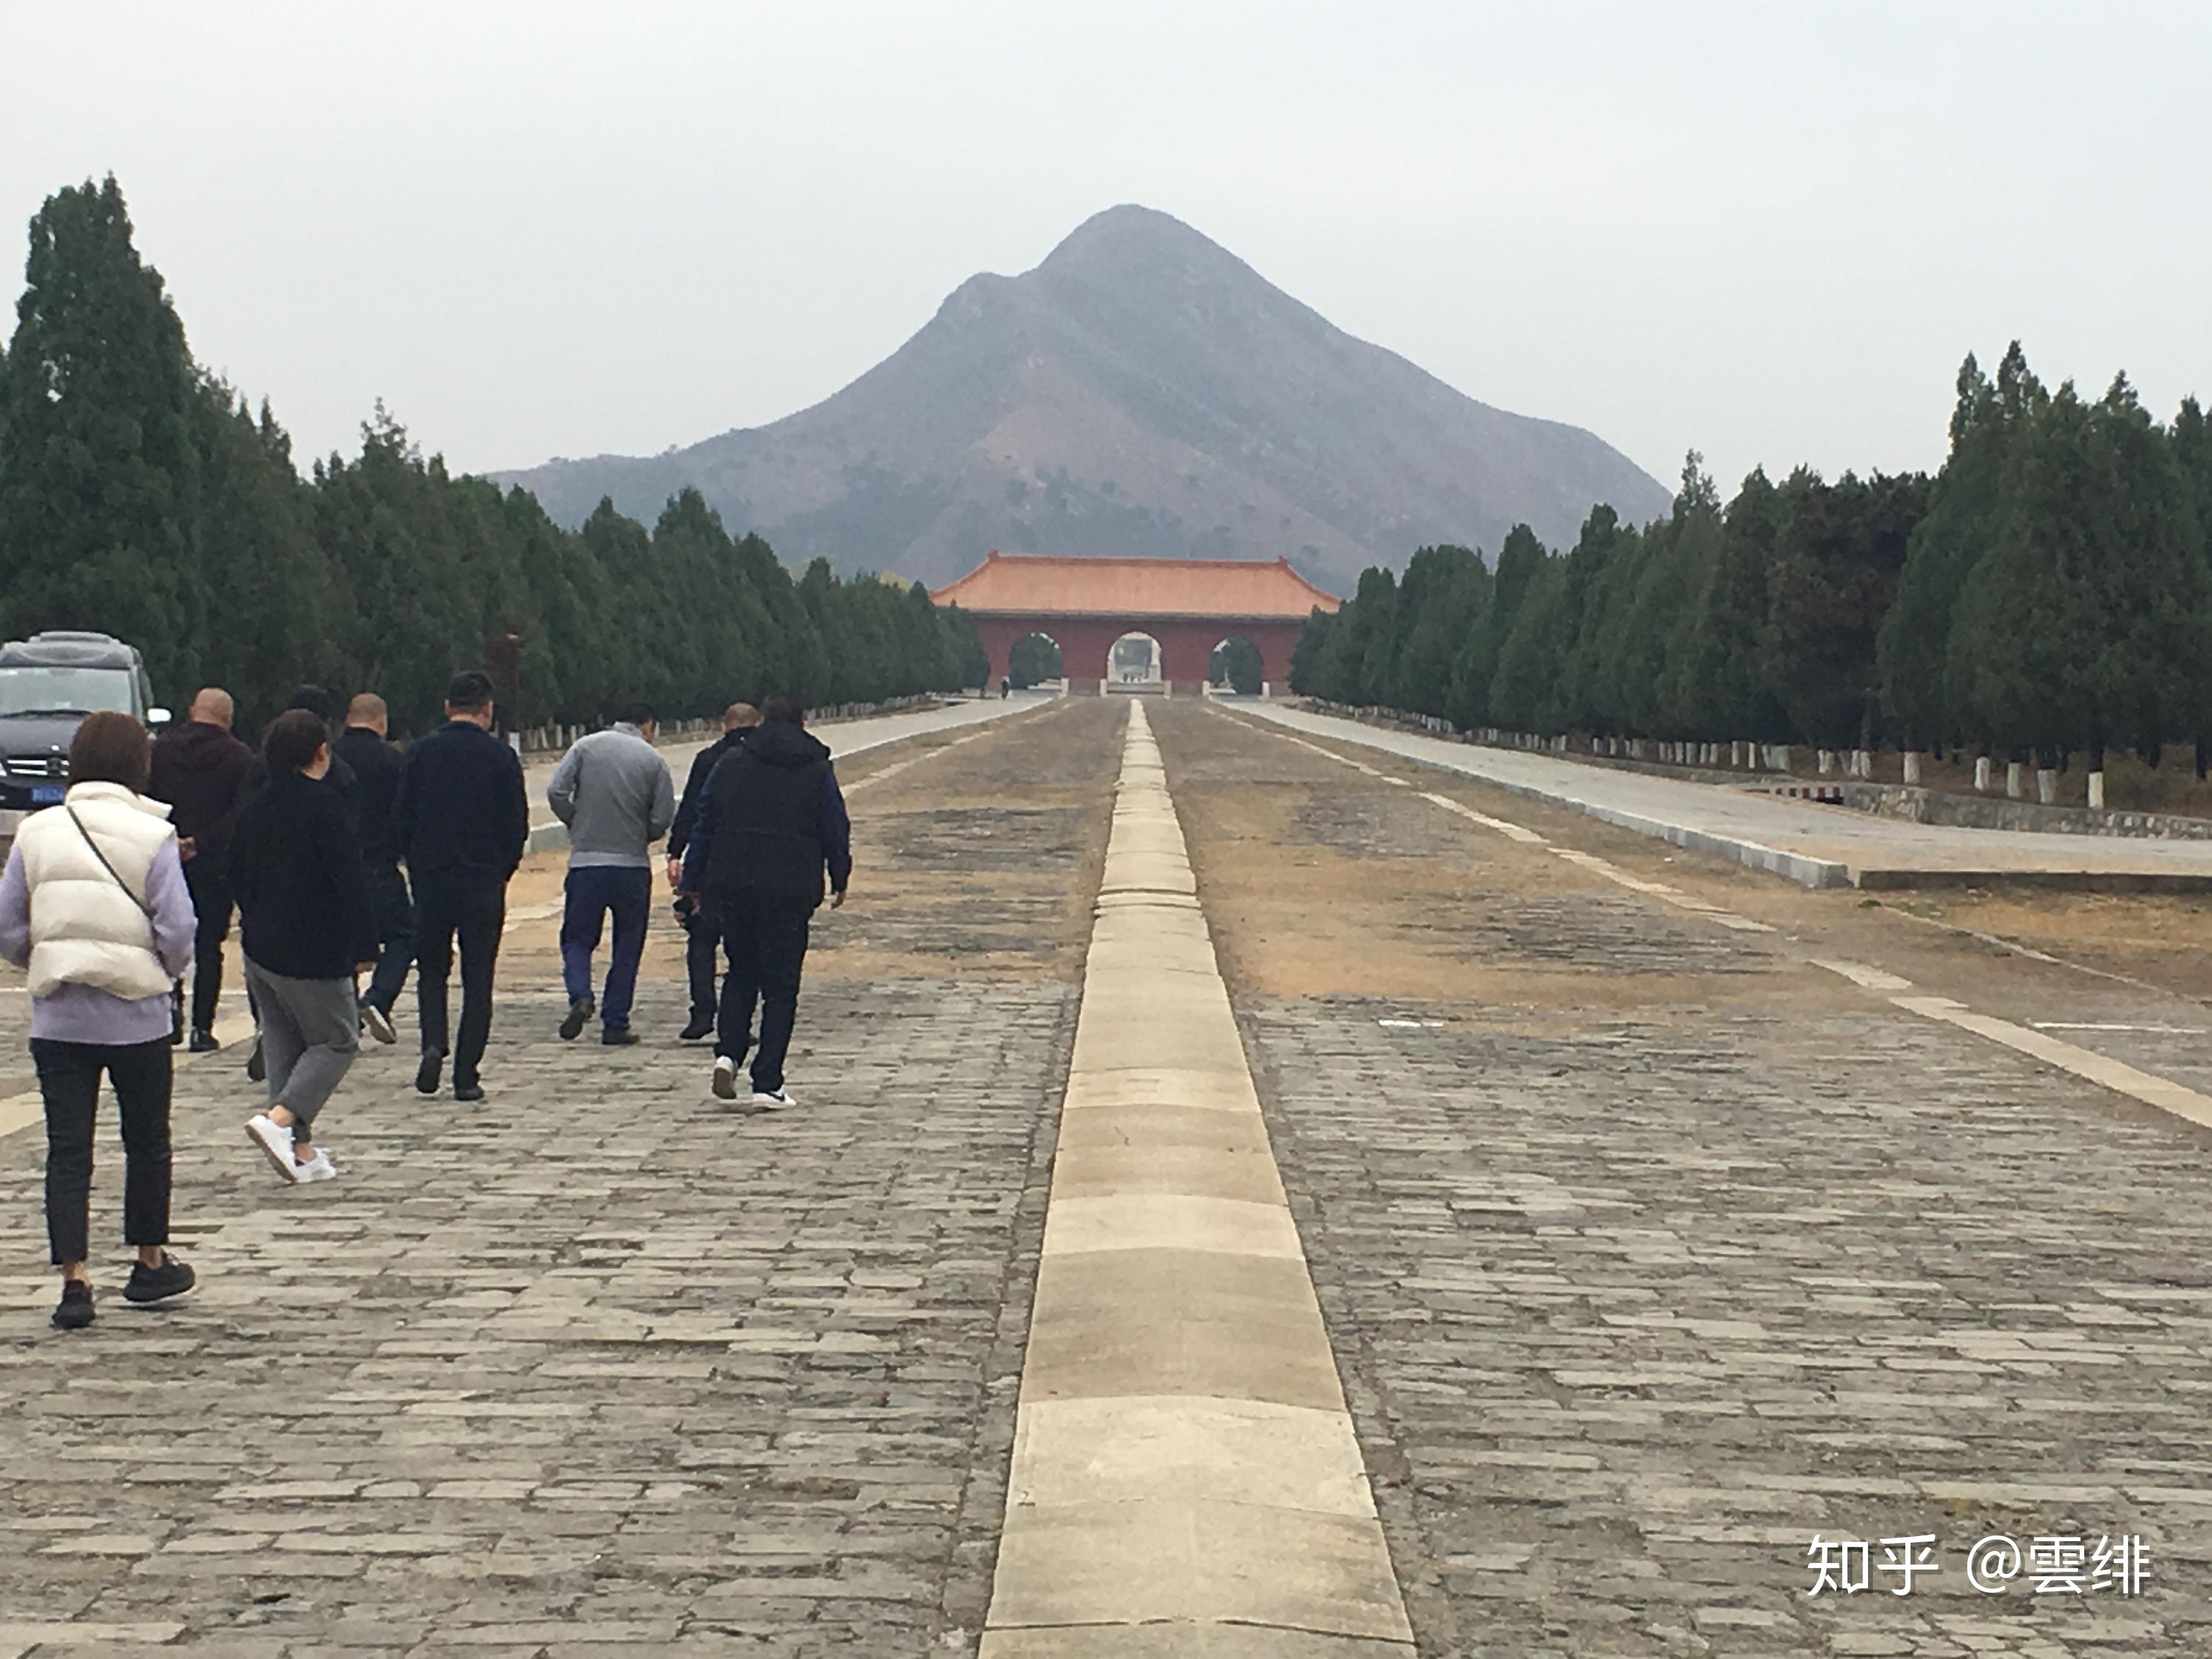
[(2212, 732), (2212, 429), (2126, 376), (2048, 392), (2013, 343), (1960, 369), (1933, 478), (1754, 469), (1723, 502), (1692, 451), (1652, 524), (1365, 571), (1292, 688), (1462, 730), (2154, 763)]

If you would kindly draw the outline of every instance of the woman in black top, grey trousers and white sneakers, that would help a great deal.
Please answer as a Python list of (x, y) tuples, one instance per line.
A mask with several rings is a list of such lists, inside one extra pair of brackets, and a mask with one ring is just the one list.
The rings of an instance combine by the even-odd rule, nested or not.
[(361, 843), (330, 774), (330, 728), (305, 708), (261, 743), (270, 781), (230, 843), (246, 984), (261, 1011), (270, 1106), (246, 1124), (285, 1181), (330, 1181), (314, 1121), (361, 1053), (354, 969), (376, 960)]

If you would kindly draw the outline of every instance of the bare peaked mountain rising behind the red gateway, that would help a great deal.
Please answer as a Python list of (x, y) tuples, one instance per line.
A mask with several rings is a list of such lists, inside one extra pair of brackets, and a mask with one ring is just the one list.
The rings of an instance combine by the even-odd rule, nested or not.
[(765, 427), (495, 473), (582, 522), (695, 484), (790, 564), (942, 584), (989, 549), (1276, 557), (1338, 593), (1427, 542), (1559, 546), (1670, 493), (1579, 427), (1506, 414), (1358, 341), (1225, 248), (1108, 208), (1022, 276), (971, 276), (898, 352)]

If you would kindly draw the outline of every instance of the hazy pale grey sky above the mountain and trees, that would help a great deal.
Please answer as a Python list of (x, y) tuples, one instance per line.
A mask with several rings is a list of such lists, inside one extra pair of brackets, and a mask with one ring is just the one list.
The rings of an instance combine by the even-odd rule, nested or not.
[(2212, 396), (2205, 4), (0, 0), (0, 58), (7, 292), (113, 170), (303, 460), (774, 420), (1117, 201), (1661, 480), (1931, 467), (2013, 336)]

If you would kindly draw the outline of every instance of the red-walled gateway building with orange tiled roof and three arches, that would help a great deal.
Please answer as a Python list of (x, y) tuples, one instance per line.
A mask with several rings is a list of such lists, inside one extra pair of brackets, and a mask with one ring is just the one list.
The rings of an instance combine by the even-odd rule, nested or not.
[[(1290, 653), (1314, 611), (1338, 599), (1290, 568), (1290, 560), (1088, 560), (991, 553), (958, 582), (931, 593), (975, 622), (991, 657), (991, 684), (1011, 677), (1013, 646), (1048, 635), (1060, 646), (1066, 688), (1097, 695), (1115, 684), (1150, 684), (1197, 697), (1217, 646), (1243, 639), (1259, 653), (1263, 690), (1290, 681)], [(1152, 644), (1152, 679), (1117, 681), (1117, 641)]]

